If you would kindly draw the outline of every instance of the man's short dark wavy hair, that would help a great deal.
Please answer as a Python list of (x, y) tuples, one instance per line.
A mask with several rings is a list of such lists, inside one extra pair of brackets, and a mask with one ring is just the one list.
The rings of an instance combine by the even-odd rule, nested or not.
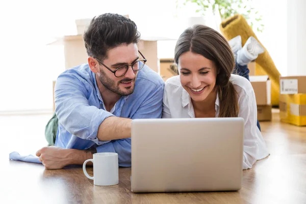
[(109, 49), (122, 44), (138, 43), (140, 33), (131, 19), (105, 13), (91, 20), (83, 38), (88, 56), (104, 60)]

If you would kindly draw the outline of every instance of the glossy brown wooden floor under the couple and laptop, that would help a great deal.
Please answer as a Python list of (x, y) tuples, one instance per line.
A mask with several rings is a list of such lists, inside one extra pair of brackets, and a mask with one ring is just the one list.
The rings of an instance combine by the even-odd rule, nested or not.
[(43, 136), (33, 141), (43, 135), (50, 116), (16, 117), (0, 116), (6, 144), (0, 150), (1, 203), (306, 203), (306, 127), (281, 123), (277, 110), (272, 122), (261, 122), (271, 155), (243, 171), (242, 189), (205, 193), (135, 194), (130, 168), (119, 168), (119, 185), (99, 187), (80, 166), (45, 170), (40, 164), (9, 161), (13, 149), (25, 152), (44, 144)]

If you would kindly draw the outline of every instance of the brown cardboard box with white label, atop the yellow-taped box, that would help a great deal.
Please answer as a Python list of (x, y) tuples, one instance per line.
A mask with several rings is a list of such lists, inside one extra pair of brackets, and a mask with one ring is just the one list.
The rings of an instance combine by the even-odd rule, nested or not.
[(279, 78), (281, 94), (306, 93), (306, 76), (290, 76)]

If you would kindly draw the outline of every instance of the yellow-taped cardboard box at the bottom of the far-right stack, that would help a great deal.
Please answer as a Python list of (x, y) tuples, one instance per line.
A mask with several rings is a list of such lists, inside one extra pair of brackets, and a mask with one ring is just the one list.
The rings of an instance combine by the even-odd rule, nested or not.
[(279, 116), (282, 122), (306, 126), (306, 94), (281, 94)]

